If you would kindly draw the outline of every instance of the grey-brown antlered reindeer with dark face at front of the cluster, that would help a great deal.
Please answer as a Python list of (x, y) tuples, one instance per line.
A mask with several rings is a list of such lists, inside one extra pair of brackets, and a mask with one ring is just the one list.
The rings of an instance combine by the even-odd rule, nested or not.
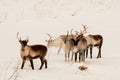
[(79, 53), (79, 62), (85, 61), (85, 51), (87, 49), (87, 40), (83, 36), (85, 33), (86, 31), (83, 30), (76, 39), (71, 39), (74, 42), (73, 52), (75, 53), (75, 62), (77, 61), (77, 53)]

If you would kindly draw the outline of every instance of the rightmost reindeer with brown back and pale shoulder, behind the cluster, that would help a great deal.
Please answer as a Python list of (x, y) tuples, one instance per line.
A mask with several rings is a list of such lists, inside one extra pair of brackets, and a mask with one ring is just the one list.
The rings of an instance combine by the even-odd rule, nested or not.
[[(82, 25), (84, 28), (84, 31), (86, 31), (86, 25)], [(103, 37), (101, 35), (91, 35), (85, 37), (87, 40), (88, 48), (90, 48), (90, 58), (92, 58), (92, 48), (97, 47), (98, 48), (98, 55), (97, 58), (101, 58), (101, 47), (103, 44)], [(86, 50), (86, 58), (88, 56), (88, 49)]]

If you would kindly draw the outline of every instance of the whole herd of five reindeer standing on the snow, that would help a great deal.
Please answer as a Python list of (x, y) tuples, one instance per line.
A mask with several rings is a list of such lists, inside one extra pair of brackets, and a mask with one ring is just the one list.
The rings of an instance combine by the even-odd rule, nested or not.
[[(29, 39), (27, 37), (26, 40), (21, 40), (21, 37), (19, 36), (19, 33), (17, 33), (17, 39), (19, 40), (19, 43), (21, 44), (20, 54), (22, 58), (22, 65), (21, 69), (23, 69), (25, 61), (29, 60), (31, 63), (32, 69), (34, 69), (33, 65), (33, 59), (40, 58), (41, 60), (41, 66), (39, 69), (42, 69), (43, 65), (45, 64), (45, 68), (47, 68), (47, 60), (45, 59), (45, 56), (47, 54), (48, 48), (51, 47), (57, 47), (58, 52), (60, 53), (61, 49), (63, 49), (65, 53), (65, 61), (69, 61), (70, 53), (71, 61), (73, 61), (73, 57), (75, 59), (75, 62), (77, 61), (77, 58), (79, 57), (79, 62), (84, 62), (85, 58), (88, 57), (88, 49), (90, 49), (90, 58), (92, 58), (92, 49), (93, 47), (98, 48), (98, 55), (97, 58), (101, 58), (101, 47), (103, 44), (103, 37), (101, 35), (85, 35), (87, 33), (86, 25), (82, 25), (83, 30), (80, 32), (75, 31), (75, 34), (73, 34), (73, 29), (69, 32), (67, 32), (66, 35), (60, 35), (56, 39), (52, 39), (52, 36), (50, 34), (47, 34), (49, 36), (49, 39), (46, 40), (47, 46), (45, 45), (27, 45)], [(79, 55), (79, 56), (77, 56)]]

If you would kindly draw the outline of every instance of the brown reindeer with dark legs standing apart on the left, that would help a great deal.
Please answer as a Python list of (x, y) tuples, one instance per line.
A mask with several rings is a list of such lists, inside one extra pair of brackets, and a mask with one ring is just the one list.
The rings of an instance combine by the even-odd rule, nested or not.
[(42, 69), (44, 63), (45, 68), (47, 68), (47, 60), (45, 56), (47, 54), (47, 47), (45, 45), (27, 45), (29, 39), (27, 37), (26, 40), (21, 40), (21, 37), (18, 37), (19, 33), (17, 33), (17, 39), (21, 44), (20, 54), (22, 58), (21, 69), (23, 69), (25, 61), (29, 60), (31, 63), (31, 68), (34, 70), (33, 59), (40, 58), (41, 66), (39, 69)]

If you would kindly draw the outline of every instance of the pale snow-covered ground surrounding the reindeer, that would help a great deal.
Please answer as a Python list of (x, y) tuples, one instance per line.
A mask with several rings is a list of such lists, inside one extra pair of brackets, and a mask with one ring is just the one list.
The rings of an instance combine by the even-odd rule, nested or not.
[[(85, 63), (65, 62), (64, 52), (49, 49), (46, 58), (48, 69), (38, 70), (39, 59), (34, 60), (35, 70), (26, 62), (21, 70), (20, 44), (29, 36), (29, 44), (47, 43), (68, 30), (80, 30), (87, 25), (88, 34), (101, 34), (104, 38), (102, 58)], [(119, 80), (120, 79), (120, 0), (0, 0), (0, 80)], [(88, 67), (80, 71), (79, 66)]]

